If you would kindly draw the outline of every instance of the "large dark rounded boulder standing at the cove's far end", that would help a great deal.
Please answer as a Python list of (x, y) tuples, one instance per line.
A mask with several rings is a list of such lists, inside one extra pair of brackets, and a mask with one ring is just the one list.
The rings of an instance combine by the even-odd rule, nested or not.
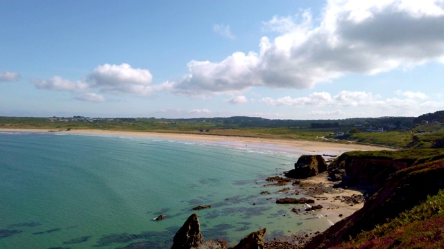
[(302, 155), (294, 164), (294, 169), (285, 173), (289, 178), (307, 178), (327, 170), (327, 163), (321, 155)]

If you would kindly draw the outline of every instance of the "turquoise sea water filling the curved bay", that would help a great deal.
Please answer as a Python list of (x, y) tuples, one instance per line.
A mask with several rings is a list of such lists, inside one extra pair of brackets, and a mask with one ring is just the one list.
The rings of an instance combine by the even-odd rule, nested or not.
[[(206, 240), (230, 245), (261, 228), (267, 240), (325, 230), (327, 220), (275, 204), (282, 187), (264, 187), (301, 153), (235, 142), (0, 132), (0, 248), (170, 248), (193, 212)], [(191, 210), (197, 205), (212, 207)], [(153, 221), (160, 214), (166, 218)]]

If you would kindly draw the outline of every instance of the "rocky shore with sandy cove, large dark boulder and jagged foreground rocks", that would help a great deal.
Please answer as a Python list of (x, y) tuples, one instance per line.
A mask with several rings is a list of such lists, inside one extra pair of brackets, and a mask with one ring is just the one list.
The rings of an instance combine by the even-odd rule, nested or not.
[[(276, 205), (287, 204), (289, 210), (295, 215), (331, 217), (329, 221), (332, 224), (333, 221), (336, 223), (362, 207), (365, 199), (360, 192), (336, 187), (335, 182), (327, 180), (328, 174), (325, 172), (327, 163), (322, 156), (302, 156), (302, 159), (295, 164), (295, 168), (305, 167), (304, 165), (309, 165), (311, 168), (299, 170), (299, 172), (303, 172), (303, 174), (307, 172), (308, 175), (305, 174), (298, 177), (298, 174), (293, 172), (291, 176), (296, 176), (297, 178), (289, 178), (284, 176), (288, 172), (282, 172), (280, 176), (271, 176), (265, 179), (267, 183), (262, 186), (265, 189), (273, 186), (283, 187), (280, 190), (280, 194), (285, 197), (277, 199), (275, 201)], [(260, 194), (270, 194), (270, 192), (264, 190)], [(295, 198), (298, 195), (307, 197)], [(296, 205), (291, 204), (305, 204), (306, 208), (296, 208)], [(205, 208), (209, 207), (210, 205), (205, 206)], [(193, 208), (193, 210), (200, 208), (203, 207), (199, 206), (196, 209)], [(228, 247), (228, 243), (220, 239), (205, 241), (203, 235), (200, 234), (200, 223), (197, 215), (191, 214), (189, 219), (182, 225), (182, 228), (176, 233), (172, 248), (299, 249), (303, 248), (307, 241), (319, 234), (320, 231), (300, 231), (291, 236), (268, 239), (266, 239), (265, 233), (266, 228), (252, 232), (239, 241), (236, 246)]]

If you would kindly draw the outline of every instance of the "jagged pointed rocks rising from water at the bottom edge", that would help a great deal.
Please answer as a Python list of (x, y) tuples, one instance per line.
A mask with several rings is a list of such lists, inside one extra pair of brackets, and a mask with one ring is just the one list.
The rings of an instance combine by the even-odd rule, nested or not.
[[(248, 234), (234, 247), (228, 249), (259, 249), (264, 248), (266, 229)], [(225, 241), (205, 241), (200, 233), (200, 222), (197, 214), (191, 214), (173, 238), (171, 249), (226, 249)]]

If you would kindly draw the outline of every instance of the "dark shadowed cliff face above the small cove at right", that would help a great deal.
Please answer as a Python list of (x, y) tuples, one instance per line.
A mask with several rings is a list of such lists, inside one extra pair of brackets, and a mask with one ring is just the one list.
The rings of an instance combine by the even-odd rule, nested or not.
[[(344, 184), (366, 186), (376, 191), (364, 208), (314, 237), (305, 248), (330, 248), (355, 237), (362, 230), (393, 219), (444, 188), (444, 159), (409, 167), (413, 163), (381, 158), (339, 158), (346, 175)], [(349, 175), (350, 174), (350, 175)], [(362, 175), (366, 174), (366, 175)], [(384, 178), (386, 177), (386, 178)]]

